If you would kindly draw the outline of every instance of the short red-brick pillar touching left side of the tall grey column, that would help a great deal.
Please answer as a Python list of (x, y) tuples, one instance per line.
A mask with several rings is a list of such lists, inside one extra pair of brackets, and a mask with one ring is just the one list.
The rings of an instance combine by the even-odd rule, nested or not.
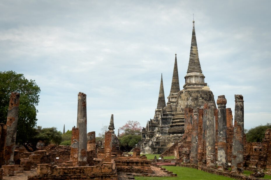
[(71, 135), (71, 156), (73, 166), (78, 166), (78, 146), (79, 146), (79, 128), (73, 127)]

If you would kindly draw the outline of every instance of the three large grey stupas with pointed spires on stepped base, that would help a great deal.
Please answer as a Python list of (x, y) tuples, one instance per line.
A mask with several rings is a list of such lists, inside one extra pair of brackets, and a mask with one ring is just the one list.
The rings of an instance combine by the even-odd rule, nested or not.
[(163, 80), (161, 78), (159, 98), (155, 110), (154, 119), (147, 122), (146, 128), (142, 129), (142, 141), (140, 147), (143, 153), (160, 154), (172, 143), (182, 139), (184, 134), (184, 109), (202, 106), (205, 102), (212, 103), (215, 107), (214, 95), (207, 83), (200, 67), (198, 47), (193, 21), (192, 39), (187, 74), (184, 77), (184, 89), (180, 91), (177, 55), (173, 68), (171, 89), (168, 102), (165, 106)]

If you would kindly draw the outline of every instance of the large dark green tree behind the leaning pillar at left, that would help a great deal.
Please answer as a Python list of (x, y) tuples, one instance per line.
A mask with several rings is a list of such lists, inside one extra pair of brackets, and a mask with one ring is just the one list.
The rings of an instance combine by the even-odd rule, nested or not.
[(16, 142), (29, 145), (36, 135), (37, 112), (40, 88), (35, 80), (27, 80), (14, 71), (0, 71), (0, 123), (6, 123), (11, 92), (20, 93), (20, 106)]

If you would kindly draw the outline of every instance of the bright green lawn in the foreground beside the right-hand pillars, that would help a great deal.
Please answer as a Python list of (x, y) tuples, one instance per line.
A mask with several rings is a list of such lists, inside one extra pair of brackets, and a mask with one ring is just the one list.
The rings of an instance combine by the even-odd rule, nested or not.
[(215, 179), (215, 180), (228, 180), (232, 179), (229, 177), (219, 176), (215, 174), (210, 174), (204, 171), (200, 171), (193, 168), (185, 168), (180, 166), (162, 166), (166, 168), (166, 170), (172, 171), (173, 173), (177, 174), (177, 177), (135, 177), (136, 179), (140, 180), (155, 180), (155, 179)]

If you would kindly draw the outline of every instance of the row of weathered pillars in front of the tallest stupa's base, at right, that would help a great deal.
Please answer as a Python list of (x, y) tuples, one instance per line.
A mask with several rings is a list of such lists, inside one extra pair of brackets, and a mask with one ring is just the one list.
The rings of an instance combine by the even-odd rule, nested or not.
[[(226, 114), (230, 110), (226, 109), (227, 100), (224, 95), (218, 96), (218, 110), (215, 111), (212, 103), (198, 105), (198, 109), (193, 110), (193, 123), (191, 132), (191, 153), (190, 162), (193, 164), (204, 164), (207, 167), (218, 166), (219, 170), (228, 169), (228, 137), (227, 127), (232, 126), (228, 121), (231, 117)], [(217, 115), (215, 115), (216, 113)], [(216, 142), (216, 118), (217, 119), (217, 157), (215, 151)], [(227, 118), (229, 120), (227, 120)], [(189, 121), (189, 119), (187, 119)], [(229, 125), (227, 125), (227, 123)], [(242, 95), (235, 95), (235, 123), (233, 131), (233, 146), (231, 166), (232, 172), (243, 172), (243, 139), (244, 139), (244, 100)], [(205, 149), (206, 145), (206, 149)], [(206, 156), (205, 156), (206, 155)], [(206, 158), (206, 159), (205, 159)], [(217, 161), (217, 164), (216, 164)]]

